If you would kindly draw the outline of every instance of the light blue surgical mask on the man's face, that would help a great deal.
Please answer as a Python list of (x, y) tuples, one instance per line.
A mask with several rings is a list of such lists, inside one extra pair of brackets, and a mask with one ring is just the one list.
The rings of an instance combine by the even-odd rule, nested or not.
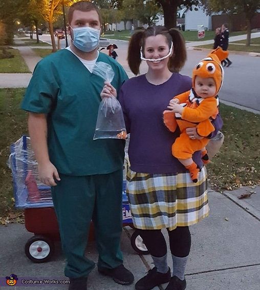
[[(71, 27), (72, 28), (72, 27)], [(99, 45), (100, 30), (92, 27), (72, 28), (74, 46), (84, 52), (90, 52)]]

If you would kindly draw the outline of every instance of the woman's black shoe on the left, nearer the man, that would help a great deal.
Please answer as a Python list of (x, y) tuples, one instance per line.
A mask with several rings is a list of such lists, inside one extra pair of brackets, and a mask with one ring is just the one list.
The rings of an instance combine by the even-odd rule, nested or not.
[(149, 290), (153, 289), (155, 286), (166, 283), (170, 281), (170, 268), (167, 273), (159, 273), (157, 272), (157, 268), (148, 271), (148, 274), (141, 278), (136, 283), (137, 290)]

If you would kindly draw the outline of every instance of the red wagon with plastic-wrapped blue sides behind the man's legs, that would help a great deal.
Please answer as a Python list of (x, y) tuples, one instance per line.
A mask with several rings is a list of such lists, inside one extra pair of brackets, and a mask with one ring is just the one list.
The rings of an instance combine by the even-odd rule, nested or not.
[[(59, 240), (59, 229), (51, 189), (37, 179), (37, 162), (34, 159), (29, 137), (23, 136), (11, 145), (9, 167), (13, 175), (15, 207), (24, 209), (25, 227), (28, 232), (34, 234), (25, 245), (25, 253), (35, 263), (46, 262), (54, 253), (54, 242)], [(125, 194), (125, 181), (122, 195), (123, 226), (133, 227)], [(91, 224), (89, 240), (94, 240), (93, 224)], [(148, 253), (138, 230), (132, 234), (131, 245), (139, 254)]]

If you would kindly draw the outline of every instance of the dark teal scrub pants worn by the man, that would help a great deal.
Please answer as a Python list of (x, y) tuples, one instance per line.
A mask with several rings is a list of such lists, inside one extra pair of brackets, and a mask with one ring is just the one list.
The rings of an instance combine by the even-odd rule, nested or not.
[(89, 176), (59, 176), (61, 180), (52, 187), (52, 198), (67, 259), (65, 276), (86, 277), (95, 267), (85, 257), (91, 220), (95, 227), (98, 267), (121, 265), (122, 170)]

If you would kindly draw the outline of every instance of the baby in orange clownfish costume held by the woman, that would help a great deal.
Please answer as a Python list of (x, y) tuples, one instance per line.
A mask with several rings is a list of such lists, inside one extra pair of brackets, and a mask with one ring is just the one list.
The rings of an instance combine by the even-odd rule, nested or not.
[[(180, 128), (180, 137), (172, 144), (172, 155), (190, 172), (193, 182), (198, 181), (199, 166), (192, 160), (192, 154), (201, 151), (204, 164), (209, 162), (206, 138), (213, 132), (211, 123), (219, 113), (218, 93), (222, 87), (224, 70), (221, 60), (227, 58), (228, 52), (221, 48), (213, 50), (206, 58), (193, 69), (192, 88), (190, 91), (175, 96), (170, 100), (168, 108), (163, 112), (165, 126), (175, 132)], [(186, 134), (187, 128), (196, 127), (197, 134), (202, 139)]]

